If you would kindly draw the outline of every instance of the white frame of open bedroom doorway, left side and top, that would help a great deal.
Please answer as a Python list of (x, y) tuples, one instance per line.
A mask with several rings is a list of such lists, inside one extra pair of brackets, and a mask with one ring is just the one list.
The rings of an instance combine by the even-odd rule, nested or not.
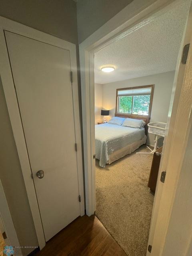
[[(142, 2), (142, 3), (141, 3)], [(105, 48), (112, 42), (134, 32), (151, 22), (157, 15), (164, 13), (164, 8), (173, 8), (181, 0), (134, 0), (122, 11), (116, 14), (106, 24), (84, 40), (80, 46), (80, 69), (82, 88), (82, 123), (84, 145), (84, 173), (86, 213), (88, 216), (96, 210), (95, 192), (95, 130), (94, 130), (94, 53)], [(126, 17), (126, 18), (125, 18)], [(181, 54), (181, 52), (180, 52)], [(173, 96), (172, 96), (173, 98)], [(176, 104), (174, 104), (176, 106)], [(177, 107), (177, 106), (176, 106)], [(176, 117), (175, 117), (176, 118)], [(171, 140), (164, 143), (170, 148)], [(179, 172), (179, 170), (177, 170)], [(159, 183), (159, 179), (158, 179)], [(157, 184), (157, 188), (160, 189)], [(174, 189), (174, 188), (173, 188)], [(158, 194), (158, 191), (156, 192)], [(161, 197), (155, 197), (154, 206), (160, 204)], [(174, 198), (172, 198), (172, 201)], [(154, 212), (154, 207), (153, 207)], [(152, 212), (152, 215), (153, 215)], [(153, 221), (155, 222), (153, 218)], [(151, 237), (151, 241), (153, 237)]]

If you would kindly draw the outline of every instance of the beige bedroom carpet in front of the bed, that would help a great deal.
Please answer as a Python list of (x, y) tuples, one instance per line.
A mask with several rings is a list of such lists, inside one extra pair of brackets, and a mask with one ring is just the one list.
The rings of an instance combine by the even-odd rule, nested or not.
[(148, 188), (152, 155), (146, 146), (99, 166), (96, 160), (96, 216), (128, 256), (145, 256), (154, 196)]

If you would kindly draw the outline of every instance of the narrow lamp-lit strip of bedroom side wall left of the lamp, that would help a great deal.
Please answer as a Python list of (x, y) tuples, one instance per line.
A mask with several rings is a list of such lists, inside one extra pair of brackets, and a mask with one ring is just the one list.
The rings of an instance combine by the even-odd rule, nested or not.
[(95, 84), (95, 124), (102, 122), (102, 84)]

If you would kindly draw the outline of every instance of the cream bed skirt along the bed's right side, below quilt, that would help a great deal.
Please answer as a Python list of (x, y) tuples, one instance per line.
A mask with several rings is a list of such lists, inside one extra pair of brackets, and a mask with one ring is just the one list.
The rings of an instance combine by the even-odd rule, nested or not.
[(127, 154), (131, 154), (136, 149), (138, 149), (141, 145), (145, 144), (147, 140), (147, 136), (145, 135), (141, 140), (138, 140), (132, 144), (129, 144), (128, 146), (121, 148), (112, 154), (109, 155), (109, 161), (107, 164), (111, 164), (112, 162), (126, 156)]

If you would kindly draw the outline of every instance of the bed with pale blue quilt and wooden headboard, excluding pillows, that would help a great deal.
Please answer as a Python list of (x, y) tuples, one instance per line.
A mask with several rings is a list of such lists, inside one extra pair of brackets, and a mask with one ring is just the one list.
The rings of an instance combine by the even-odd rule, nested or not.
[(144, 128), (132, 128), (116, 124), (99, 124), (95, 127), (96, 159), (101, 167), (131, 154), (146, 143), (148, 118), (143, 116), (128, 116), (115, 114), (117, 117), (142, 119), (146, 123)]

